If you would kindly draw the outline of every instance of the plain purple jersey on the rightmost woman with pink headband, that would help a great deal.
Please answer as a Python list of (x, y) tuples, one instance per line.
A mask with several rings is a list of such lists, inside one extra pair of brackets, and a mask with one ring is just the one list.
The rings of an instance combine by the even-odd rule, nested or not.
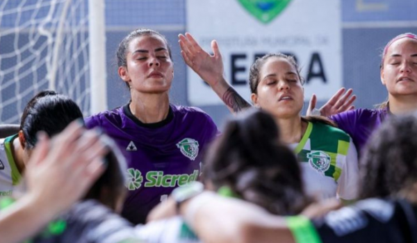
[(388, 114), (388, 108), (357, 109), (341, 112), (333, 115), (330, 119), (336, 122), (338, 128), (352, 137), (354, 144), (357, 146), (357, 151), (361, 155), (368, 138), (382, 124)]

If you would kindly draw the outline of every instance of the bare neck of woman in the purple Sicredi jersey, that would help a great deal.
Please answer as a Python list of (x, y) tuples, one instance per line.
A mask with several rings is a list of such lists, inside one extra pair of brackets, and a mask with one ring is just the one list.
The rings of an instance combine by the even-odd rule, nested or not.
[(132, 114), (143, 123), (156, 123), (163, 121), (170, 110), (168, 93), (163, 94), (139, 94), (131, 93), (129, 108)]

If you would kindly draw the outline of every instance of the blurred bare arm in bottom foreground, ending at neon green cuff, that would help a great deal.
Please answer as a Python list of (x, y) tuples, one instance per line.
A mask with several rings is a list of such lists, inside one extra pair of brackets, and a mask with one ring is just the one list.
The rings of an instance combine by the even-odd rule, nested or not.
[(284, 217), (270, 215), (244, 201), (208, 193), (202, 196), (202, 200), (184, 203), (181, 214), (186, 215), (186, 221), (203, 242), (294, 242)]

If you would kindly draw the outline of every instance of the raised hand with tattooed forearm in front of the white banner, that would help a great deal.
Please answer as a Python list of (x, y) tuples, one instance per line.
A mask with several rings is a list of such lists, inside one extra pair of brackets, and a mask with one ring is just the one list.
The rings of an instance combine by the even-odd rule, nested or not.
[(224, 77), (222, 54), (215, 40), (211, 42), (213, 55), (204, 51), (190, 33), (179, 35), (179, 46), (181, 56), (188, 67), (211, 86), (232, 113), (251, 106), (227, 83)]

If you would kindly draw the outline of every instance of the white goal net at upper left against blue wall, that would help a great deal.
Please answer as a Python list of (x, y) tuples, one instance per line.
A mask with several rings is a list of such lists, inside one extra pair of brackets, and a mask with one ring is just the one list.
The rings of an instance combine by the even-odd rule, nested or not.
[(90, 114), (88, 23), (87, 0), (0, 1), (1, 123), (19, 122), (28, 100), (46, 89)]

